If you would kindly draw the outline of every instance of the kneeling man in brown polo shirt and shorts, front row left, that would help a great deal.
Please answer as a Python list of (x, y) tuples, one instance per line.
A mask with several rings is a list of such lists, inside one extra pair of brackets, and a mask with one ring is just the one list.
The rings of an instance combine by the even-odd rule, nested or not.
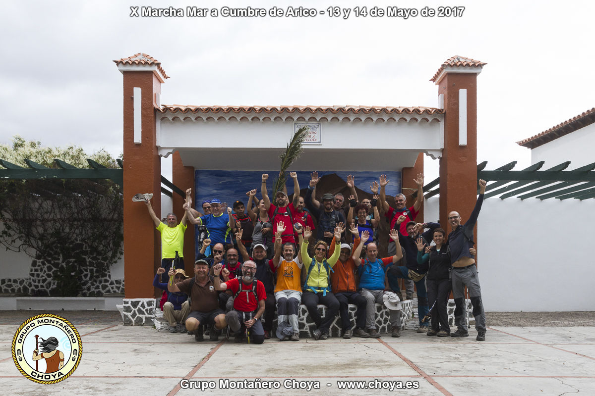
[[(225, 313), (219, 308), (219, 297), (215, 289), (215, 283), (208, 273), (209, 264), (204, 260), (196, 260), (194, 263), (194, 278), (171, 285), (168, 284), (167, 286), (167, 290), (170, 292), (183, 292), (190, 296), (190, 313), (186, 318), (186, 329), (195, 332), (195, 341), (203, 340), (202, 332), (198, 331), (201, 324), (215, 326), (209, 333), (211, 341), (217, 341), (219, 339), (218, 332), (227, 326)], [(173, 277), (174, 274), (174, 270), (170, 268), (170, 277)], [(216, 278), (218, 283), (219, 277)]]

